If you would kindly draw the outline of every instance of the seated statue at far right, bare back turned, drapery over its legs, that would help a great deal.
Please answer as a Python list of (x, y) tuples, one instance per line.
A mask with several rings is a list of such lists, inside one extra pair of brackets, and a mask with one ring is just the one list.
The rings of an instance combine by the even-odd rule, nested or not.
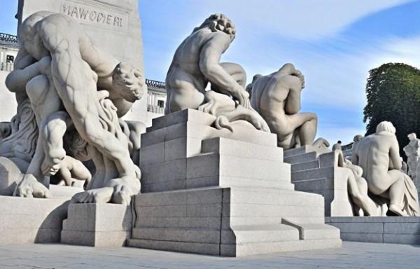
[(402, 172), (395, 127), (388, 121), (358, 142), (351, 159), (363, 169), (369, 191), (389, 201), (388, 209), (400, 216), (419, 216), (416, 186)]

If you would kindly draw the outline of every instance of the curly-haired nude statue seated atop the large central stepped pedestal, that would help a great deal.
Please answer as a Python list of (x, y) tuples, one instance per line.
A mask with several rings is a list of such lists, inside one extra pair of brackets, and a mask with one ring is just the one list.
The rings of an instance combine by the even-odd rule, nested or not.
[(181, 43), (167, 72), (165, 114), (198, 109), (218, 117), (218, 128), (232, 130), (230, 122), (246, 120), (269, 132), (265, 120), (249, 104), (244, 69), (239, 64), (219, 62), (235, 34), (229, 18), (214, 14)]

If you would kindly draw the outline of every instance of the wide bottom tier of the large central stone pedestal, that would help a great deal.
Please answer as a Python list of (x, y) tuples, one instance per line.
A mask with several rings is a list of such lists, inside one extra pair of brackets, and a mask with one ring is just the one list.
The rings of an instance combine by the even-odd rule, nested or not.
[(246, 256), (340, 247), (320, 195), (262, 188), (195, 188), (137, 195), (131, 247)]

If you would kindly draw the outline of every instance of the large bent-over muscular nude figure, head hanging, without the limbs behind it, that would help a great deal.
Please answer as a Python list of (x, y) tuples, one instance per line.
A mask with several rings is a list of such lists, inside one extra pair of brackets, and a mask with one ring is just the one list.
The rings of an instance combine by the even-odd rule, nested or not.
[[(144, 78), (139, 71), (118, 64), (116, 59), (95, 47), (78, 23), (64, 15), (45, 11), (34, 13), (22, 23), (19, 39), (22, 48), (16, 59), (18, 73), (10, 74), (8, 87), (21, 88), (25, 83), (30, 98), (29, 92), (39, 91), (34, 97), (43, 100), (43, 104), (39, 109), (34, 105), (34, 110), (41, 130), (46, 124), (42, 121), (63, 106), (80, 137), (117, 167), (118, 177), (107, 182), (108, 189), (104, 192), (110, 193), (109, 188), (112, 188), (112, 202), (129, 203), (131, 195), (140, 191), (140, 171), (130, 159), (128, 149), (114, 135), (104, 131), (99, 120), (104, 111), (99, 105), (97, 89), (109, 91), (109, 99), (117, 107), (118, 116), (123, 116), (141, 97)], [(45, 74), (42, 71), (35, 76), (28, 74), (27, 69), (42, 61), (45, 62), (43, 66), (35, 69), (45, 70)], [(54, 105), (50, 105), (52, 102)], [(42, 160), (42, 154), (38, 151), (41, 157), (37, 159)], [(42, 181), (39, 170), (38, 164), (31, 164), (27, 174), (34, 174)], [(31, 188), (27, 185), (25, 181), (20, 184), (30, 193)], [(94, 202), (95, 195), (100, 192), (87, 191), (81, 200)]]

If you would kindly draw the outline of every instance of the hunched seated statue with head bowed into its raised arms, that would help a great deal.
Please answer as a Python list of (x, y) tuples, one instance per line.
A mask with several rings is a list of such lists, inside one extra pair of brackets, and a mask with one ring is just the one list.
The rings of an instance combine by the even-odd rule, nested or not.
[(278, 146), (293, 149), (304, 145), (329, 146), (317, 139), (318, 119), (314, 113), (299, 113), (304, 76), (293, 64), (284, 64), (268, 76), (255, 75), (251, 85), (251, 106), (264, 118), (278, 138)]

